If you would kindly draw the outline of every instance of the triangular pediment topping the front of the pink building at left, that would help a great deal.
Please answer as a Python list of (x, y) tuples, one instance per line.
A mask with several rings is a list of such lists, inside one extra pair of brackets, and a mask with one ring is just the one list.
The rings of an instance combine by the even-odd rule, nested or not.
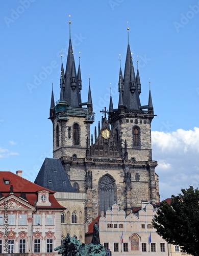
[(27, 203), (26, 201), (16, 197), (14, 194), (10, 194), (4, 199), (0, 200), (0, 210), (7, 208), (7, 210), (35, 210), (36, 207)]

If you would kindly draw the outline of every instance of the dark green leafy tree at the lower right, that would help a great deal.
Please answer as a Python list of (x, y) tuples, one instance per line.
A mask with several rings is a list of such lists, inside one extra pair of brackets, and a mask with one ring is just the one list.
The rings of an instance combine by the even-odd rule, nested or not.
[(190, 186), (182, 194), (162, 202), (152, 224), (168, 243), (180, 245), (182, 252), (199, 256), (199, 190)]

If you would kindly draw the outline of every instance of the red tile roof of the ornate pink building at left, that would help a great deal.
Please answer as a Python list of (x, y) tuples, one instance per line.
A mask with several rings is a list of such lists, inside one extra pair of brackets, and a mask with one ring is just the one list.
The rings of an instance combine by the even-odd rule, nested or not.
[[(10, 184), (5, 184), (4, 180), (9, 180)], [(51, 202), (51, 206), (38, 206), (38, 209), (65, 209), (65, 207), (61, 206), (54, 197), (54, 191), (41, 187), (11, 172), (0, 172), (0, 192), (4, 197), (10, 195), (11, 185), (13, 185), (13, 194), (16, 197), (19, 197), (21, 192), (26, 193), (28, 203), (33, 206), (36, 206), (35, 204), (38, 200), (37, 191), (49, 191), (49, 202)]]

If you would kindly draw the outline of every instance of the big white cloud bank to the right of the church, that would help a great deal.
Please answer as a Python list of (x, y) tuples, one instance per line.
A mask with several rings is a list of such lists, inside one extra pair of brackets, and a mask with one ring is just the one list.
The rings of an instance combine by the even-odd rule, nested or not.
[(181, 188), (199, 187), (199, 128), (152, 132), (153, 160), (158, 160), (161, 200), (178, 195)]

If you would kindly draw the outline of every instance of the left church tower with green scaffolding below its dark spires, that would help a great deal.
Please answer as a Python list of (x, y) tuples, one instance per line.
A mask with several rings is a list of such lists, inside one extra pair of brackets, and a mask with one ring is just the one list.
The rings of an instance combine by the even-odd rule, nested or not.
[(84, 159), (90, 152), (90, 124), (94, 122), (90, 80), (87, 102), (81, 101), (81, 90), (80, 63), (77, 74), (69, 34), (65, 72), (61, 63), (60, 99), (55, 105), (52, 91), (49, 119), (53, 122), (53, 157), (60, 158), (73, 188), (84, 193)]

